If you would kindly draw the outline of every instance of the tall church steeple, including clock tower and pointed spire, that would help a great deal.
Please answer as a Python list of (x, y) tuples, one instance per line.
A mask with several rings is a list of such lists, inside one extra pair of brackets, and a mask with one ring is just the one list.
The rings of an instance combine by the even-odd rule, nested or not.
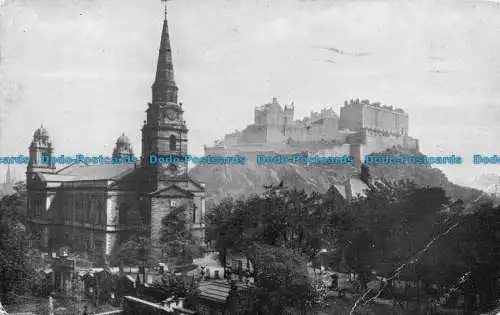
[(182, 160), (187, 154), (188, 129), (183, 120), (182, 103), (177, 101), (177, 92), (165, 14), (156, 77), (152, 86), (153, 99), (148, 104), (147, 120), (142, 128), (143, 167), (148, 171), (152, 190), (163, 187), (167, 182), (187, 180), (187, 162), (158, 163), (158, 157), (180, 157)]

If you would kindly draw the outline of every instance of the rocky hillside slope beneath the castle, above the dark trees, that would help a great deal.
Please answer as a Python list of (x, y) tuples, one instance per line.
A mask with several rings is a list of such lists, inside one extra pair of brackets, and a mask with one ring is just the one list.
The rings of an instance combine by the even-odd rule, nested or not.
[[(392, 149), (384, 154), (407, 154)], [(478, 197), (481, 191), (462, 187), (448, 181), (444, 173), (429, 165), (377, 165), (370, 166), (374, 178), (393, 180), (411, 179), (420, 186), (442, 187), (449, 197), (465, 202)], [(263, 192), (263, 185), (283, 180), (286, 187), (304, 189), (306, 192), (326, 192), (331, 185), (340, 184), (356, 169), (347, 165), (257, 165), (248, 159), (246, 165), (198, 165), (190, 175), (206, 182), (207, 200), (218, 202), (227, 196), (242, 197)]]

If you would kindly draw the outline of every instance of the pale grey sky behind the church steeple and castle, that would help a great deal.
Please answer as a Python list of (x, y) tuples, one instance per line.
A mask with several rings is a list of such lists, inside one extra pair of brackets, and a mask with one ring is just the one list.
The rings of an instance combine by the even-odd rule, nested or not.
[[(57, 155), (111, 155), (122, 132), (139, 153), (162, 3), (0, 4), (0, 156), (27, 155), (41, 124)], [(500, 154), (499, 1), (173, 0), (168, 12), (193, 155), (273, 97), (296, 118), (359, 98), (404, 109), (423, 153), (462, 156), (441, 168), (451, 180), (499, 173), (472, 165)]]

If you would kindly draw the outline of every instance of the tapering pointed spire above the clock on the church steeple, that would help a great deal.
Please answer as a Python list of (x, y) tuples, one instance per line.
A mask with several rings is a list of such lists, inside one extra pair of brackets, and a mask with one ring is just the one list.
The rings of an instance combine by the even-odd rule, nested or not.
[(156, 67), (156, 78), (153, 83), (153, 102), (168, 102), (177, 104), (177, 84), (174, 79), (172, 48), (168, 33), (167, 11), (165, 4), (165, 19), (161, 33), (160, 52)]

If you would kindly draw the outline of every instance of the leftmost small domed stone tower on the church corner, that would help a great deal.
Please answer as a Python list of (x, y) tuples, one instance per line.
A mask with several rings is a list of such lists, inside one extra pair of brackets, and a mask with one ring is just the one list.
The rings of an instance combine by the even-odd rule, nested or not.
[(43, 126), (40, 126), (33, 134), (33, 141), (31, 141), (29, 149), (30, 161), (26, 172), (28, 179), (35, 172), (54, 172), (56, 166), (52, 161), (53, 151), (49, 133)]

